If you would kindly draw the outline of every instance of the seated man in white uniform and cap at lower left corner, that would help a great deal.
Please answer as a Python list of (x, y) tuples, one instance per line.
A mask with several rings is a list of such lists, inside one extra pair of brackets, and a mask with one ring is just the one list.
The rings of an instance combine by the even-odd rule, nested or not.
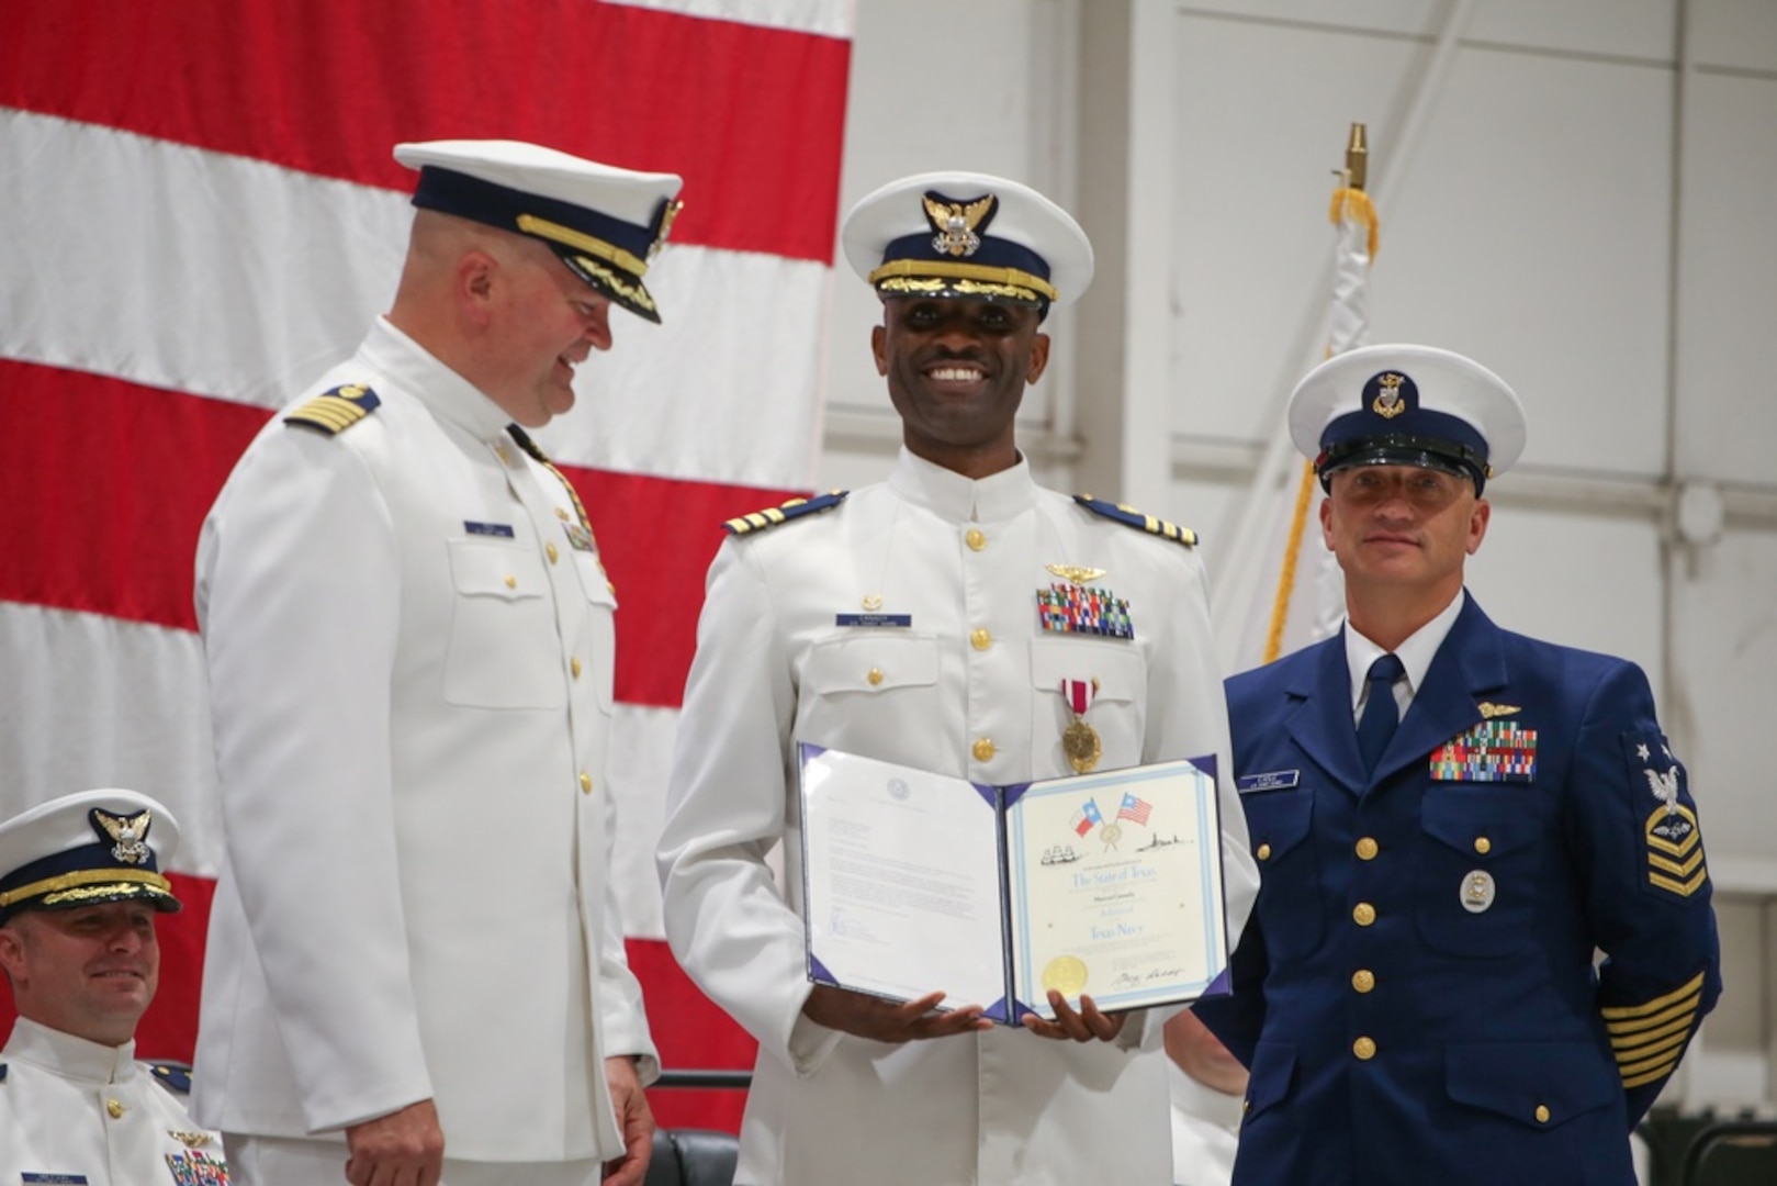
[(160, 873), (179, 843), (135, 791), (80, 791), (0, 823), (0, 1182), (227, 1186), (222, 1142), (185, 1115), (187, 1076), (135, 1062), (155, 999)]

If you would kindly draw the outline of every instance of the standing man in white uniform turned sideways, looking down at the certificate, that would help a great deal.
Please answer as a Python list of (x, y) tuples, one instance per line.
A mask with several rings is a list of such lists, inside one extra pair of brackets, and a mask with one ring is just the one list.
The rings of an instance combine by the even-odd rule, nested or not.
[(197, 1113), (245, 1182), (636, 1186), (617, 599), (526, 429), (574, 405), (613, 304), (659, 320), (679, 178), (510, 140), (394, 156), (419, 171), (394, 308), (199, 541), (227, 857)]

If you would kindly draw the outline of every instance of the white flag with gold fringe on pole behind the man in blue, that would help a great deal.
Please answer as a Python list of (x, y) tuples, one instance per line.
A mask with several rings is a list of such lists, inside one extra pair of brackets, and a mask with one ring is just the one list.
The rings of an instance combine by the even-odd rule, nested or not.
[[(1370, 340), (1368, 283), (1370, 261), (1375, 258), (1379, 224), (1375, 204), (1365, 188), (1368, 146), (1365, 126), (1351, 126), (1345, 149), (1345, 169), (1333, 190), (1331, 219), (1335, 226), (1333, 258), (1333, 313), (1327, 329), (1326, 356), (1343, 354)], [(1279, 421), (1278, 434), (1287, 441)], [(1294, 453), (1294, 450), (1288, 450)], [(1256, 567), (1249, 576), (1251, 597), (1217, 597), (1217, 633), (1235, 638), (1231, 654), (1224, 653), (1230, 672), (1271, 663), (1310, 642), (1331, 637), (1345, 615), (1345, 587), (1338, 562), (1320, 539), (1315, 517), (1319, 505), (1319, 478), (1313, 464), (1295, 466), (1295, 477), (1279, 487), (1269, 485), (1271, 475), (1260, 473), (1251, 498), (1265, 505), (1258, 517), (1256, 555), (1237, 557), (1230, 569), (1242, 562)]]

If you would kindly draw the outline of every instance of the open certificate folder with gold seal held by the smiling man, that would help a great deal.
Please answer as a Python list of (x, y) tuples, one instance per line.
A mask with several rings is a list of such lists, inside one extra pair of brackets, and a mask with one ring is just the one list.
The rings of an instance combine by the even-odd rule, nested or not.
[(1228, 967), (1215, 759), (983, 786), (800, 745), (809, 980), (1000, 1024), (1192, 1001)]

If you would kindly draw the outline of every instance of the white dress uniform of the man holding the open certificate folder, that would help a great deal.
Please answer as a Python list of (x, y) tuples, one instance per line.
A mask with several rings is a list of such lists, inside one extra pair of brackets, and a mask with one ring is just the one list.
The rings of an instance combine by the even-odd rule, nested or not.
[[(1061, 580), (1048, 564), (1104, 569), (1091, 583), (1128, 601), (1134, 638), (1041, 629), (1036, 594)], [(912, 624), (835, 624), (876, 597)], [(887, 484), (723, 544), (661, 877), (673, 953), (761, 1044), (737, 1182), (1171, 1182), (1164, 1010), (1116, 1044), (997, 1028), (887, 1046), (801, 1017), (794, 741), (976, 782), (1066, 775), (1064, 677), (1100, 685), (1102, 770), (1215, 756), (1239, 935), (1258, 875), (1196, 553), (1040, 489), (1025, 462), (972, 482), (904, 450)], [(766, 866), (778, 843), (787, 902)]]

